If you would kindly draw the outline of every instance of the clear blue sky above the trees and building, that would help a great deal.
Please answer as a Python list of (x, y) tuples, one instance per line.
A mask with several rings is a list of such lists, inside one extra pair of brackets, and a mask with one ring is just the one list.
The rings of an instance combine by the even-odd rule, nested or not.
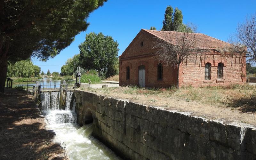
[(78, 45), (90, 32), (112, 36), (119, 44), (119, 56), (142, 28), (155, 26), (161, 30), (168, 5), (173, 10), (178, 7), (182, 11), (184, 24), (193, 23), (197, 26), (197, 32), (226, 42), (236, 31), (237, 24), (256, 12), (255, 0), (108, 0), (90, 14), (87, 30), (76, 35), (74, 42), (59, 55), (46, 62), (34, 58), (32, 61), (44, 73), (48, 69), (51, 73), (60, 72), (68, 58), (79, 54)]

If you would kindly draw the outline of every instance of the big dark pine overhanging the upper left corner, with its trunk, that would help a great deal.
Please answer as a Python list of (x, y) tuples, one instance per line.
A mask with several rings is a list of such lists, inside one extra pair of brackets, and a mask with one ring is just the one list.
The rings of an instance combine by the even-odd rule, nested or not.
[(30, 56), (48, 60), (85, 31), (89, 13), (106, 0), (33, 0), (0, 2), (0, 92), (7, 61)]

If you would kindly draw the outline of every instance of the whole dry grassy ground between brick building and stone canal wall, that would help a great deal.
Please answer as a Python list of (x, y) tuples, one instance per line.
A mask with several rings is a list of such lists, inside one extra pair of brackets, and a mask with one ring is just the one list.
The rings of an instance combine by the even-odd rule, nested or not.
[(123, 86), (84, 90), (167, 110), (191, 112), (192, 115), (208, 119), (238, 121), (256, 126), (255, 85), (181, 87), (178, 90), (175, 87), (163, 89)]

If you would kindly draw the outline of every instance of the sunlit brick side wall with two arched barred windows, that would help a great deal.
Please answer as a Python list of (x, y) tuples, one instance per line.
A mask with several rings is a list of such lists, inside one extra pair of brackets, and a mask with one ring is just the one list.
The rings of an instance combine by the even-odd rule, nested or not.
[[(218, 63), (222, 62), (223, 80), (218, 80), (217, 68)], [(205, 63), (211, 63), (211, 80), (204, 79)], [(190, 56), (180, 65), (180, 86), (216, 86), (229, 84), (243, 84), (246, 82), (245, 77), (245, 57), (239, 55), (226, 55), (223, 57), (220, 53), (206, 53)]]

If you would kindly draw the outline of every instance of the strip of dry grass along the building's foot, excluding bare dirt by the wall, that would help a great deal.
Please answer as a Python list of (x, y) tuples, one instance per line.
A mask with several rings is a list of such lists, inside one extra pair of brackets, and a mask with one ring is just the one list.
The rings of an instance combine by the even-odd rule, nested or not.
[[(186, 86), (176, 89), (174, 86), (164, 88), (142, 88), (139, 86), (126, 86), (116, 88), (92, 89), (92, 92), (102, 92), (110, 94), (124, 93), (131, 94), (133, 100), (138, 99), (136, 95), (157, 96), (159, 98), (172, 98), (184, 100), (185, 102), (198, 101), (205, 104), (218, 107), (240, 107), (243, 112), (256, 112), (256, 86), (255, 85), (228, 85), (228, 86), (207, 86), (192, 87)], [(136, 98), (135, 98), (136, 97)], [(156, 98), (157, 98), (156, 97)], [(155, 99), (149, 99), (149, 102), (155, 102)], [(165, 107), (167, 104), (163, 104)]]

